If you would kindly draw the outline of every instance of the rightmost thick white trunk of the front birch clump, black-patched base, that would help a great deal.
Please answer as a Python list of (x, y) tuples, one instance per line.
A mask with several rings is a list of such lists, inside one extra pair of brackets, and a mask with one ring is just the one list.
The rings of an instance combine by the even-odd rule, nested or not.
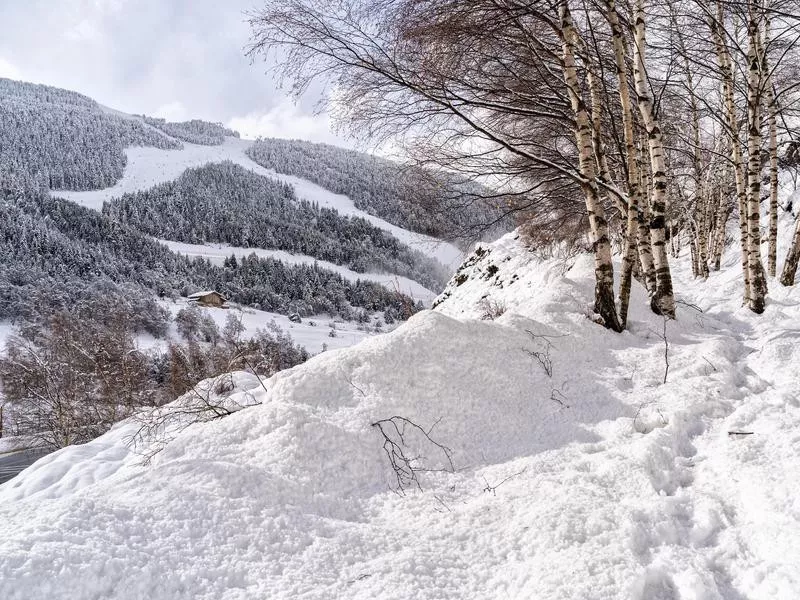
[(653, 177), (653, 194), (650, 199), (650, 240), (653, 247), (653, 264), (656, 270), (656, 289), (651, 297), (651, 307), (658, 314), (675, 318), (675, 298), (672, 276), (667, 258), (665, 213), (667, 204), (667, 173), (661, 128), (653, 111), (650, 82), (645, 67), (645, 16), (644, 0), (636, 0), (634, 14), (633, 75), (639, 112), (647, 131), (650, 164)]

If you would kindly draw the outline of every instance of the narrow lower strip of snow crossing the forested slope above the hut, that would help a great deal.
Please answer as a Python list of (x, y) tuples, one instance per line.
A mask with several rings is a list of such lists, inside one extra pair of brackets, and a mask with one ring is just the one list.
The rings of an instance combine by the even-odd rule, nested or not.
[(356, 281), (358, 279), (366, 281), (374, 281), (380, 283), (384, 287), (400, 291), (414, 300), (421, 300), (425, 306), (430, 306), (436, 294), (421, 284), (400, 275), (393, 275), (389, 273), (358, 273), (352, 271), (347, 267), (327, 262), (324, 260), (317, 260), (313, 256), (306, 256), (304, 254), (290, 254), (283, 250), (265, 250), (263, 248), (241, 248), (239, 246), (228, 246), (227, 244), (187, 244), (184, 242), (172, 242), (169, 240), (159, 239), (159, 242), (167, 246), (173, 252), (183, 254), (191, 257), (202, 257), (209, 260), (215, 265), (221, 265), (226, 258), (231, 254), (236, 257), (245, 257), (255, 254), (263, 258), (273, 258), (280, 260), (286, 264), (299, 265), (299, 264), (314, 264), (316, 263), (321, 268), (328, 271), (338, 273), (348, 281)]

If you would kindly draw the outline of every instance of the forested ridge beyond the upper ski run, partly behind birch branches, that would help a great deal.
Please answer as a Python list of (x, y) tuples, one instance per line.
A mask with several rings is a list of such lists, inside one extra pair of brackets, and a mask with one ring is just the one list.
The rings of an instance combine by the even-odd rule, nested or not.
[(513, 228), (488, 190), (377, 156), (302, 140), (259, 139), (255, 162), (348, 196), (359, 209), (442, 239), (470, 239)]

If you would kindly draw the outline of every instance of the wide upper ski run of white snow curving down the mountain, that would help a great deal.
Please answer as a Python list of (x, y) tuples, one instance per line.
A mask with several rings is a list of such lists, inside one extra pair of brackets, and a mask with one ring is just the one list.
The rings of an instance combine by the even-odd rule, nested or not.
[(357, 209), (347, 196), (329, 192), (310, 181), (265, 169), (253, 162), (245, 154), (247, 148), (252, 144), (251, 140), (226, 137), (225, 142), (219, 146), (202, 146), (183, 142), (181, 150), (161, 150), (159, 148), (143, 147), (127, 148), (125, 154), (128, 158), (128, 163), (125, 167), (125, 173), (122, 179), (113, 187), (87, 192), (57, 191), (53, 193), (61, 198), (77, 202), (82, 206), (100, 210), (103, 207), (103, 202), (117, 198), (122, 194), (146, 190), (159, 183), (173, 181), (180, 177), (181, 173), (186, 169), (200, 167), (210, 162), (229, 160), (259, 175), (266, 175), (273, 179), (290, 183), (294, 186), (299, 198), (317, 202), (320, 206), (335, 208), (343, 215), (362, 217), (376, 227), (388, 231), (401, 242), (435, 258), (445, 266), (455, 268), (461, 261), (463, 252), (452, 244), (407, 231), (383, 219), (367, 214)]

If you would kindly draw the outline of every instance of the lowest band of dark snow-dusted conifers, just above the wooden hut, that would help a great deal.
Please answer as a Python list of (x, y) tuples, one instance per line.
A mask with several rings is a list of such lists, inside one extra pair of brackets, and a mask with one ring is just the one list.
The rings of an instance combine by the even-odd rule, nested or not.
[(132, 284), (150, 296), (217, 289), (257, 308), (353, 317), (354, 307), (406, 318), (412, 301), (372, 282), (313, 265), (256, 258), (217, 267), (170, 252), (149, 236), (37, 191), (0, 191), (0, 318), (36, 319), (77, 302), (87, 284)]

